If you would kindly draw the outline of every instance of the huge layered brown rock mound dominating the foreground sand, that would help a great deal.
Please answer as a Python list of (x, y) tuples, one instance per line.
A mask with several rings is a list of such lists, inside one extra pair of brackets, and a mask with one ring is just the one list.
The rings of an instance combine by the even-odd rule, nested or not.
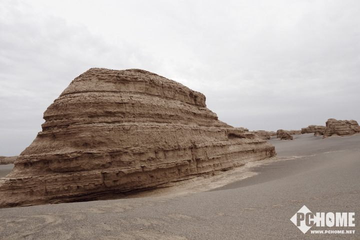
[(203, 94), (139, 69), (89, 69), (43, 118), (0, 179), (1, 207), (91, 200), (276, 154), (254, 133), (219, 121)]

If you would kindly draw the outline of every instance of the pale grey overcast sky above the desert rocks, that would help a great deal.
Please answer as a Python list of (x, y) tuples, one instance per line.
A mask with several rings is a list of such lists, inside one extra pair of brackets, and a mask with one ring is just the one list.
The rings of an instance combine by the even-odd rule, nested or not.
[(91, 67), (140, 68), (249, 130), (360, 122), (358, 0), (1, 0), (0, 155)]

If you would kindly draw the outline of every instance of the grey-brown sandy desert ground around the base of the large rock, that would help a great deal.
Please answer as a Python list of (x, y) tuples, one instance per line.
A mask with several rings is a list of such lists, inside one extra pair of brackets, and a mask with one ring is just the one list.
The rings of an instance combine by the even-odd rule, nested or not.
[[(359, 239), (360, 135), (268, 140), (277, 157), (132, 198), (0, 209), (0, 239)], [(0, 169), (1, 171), (1, 169)], [(354, 234), (290, 218), (355, 212)]]

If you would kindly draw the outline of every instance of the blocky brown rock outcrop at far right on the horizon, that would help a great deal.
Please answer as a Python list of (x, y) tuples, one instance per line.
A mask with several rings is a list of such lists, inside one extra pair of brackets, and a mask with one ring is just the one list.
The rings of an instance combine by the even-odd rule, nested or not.
[(336, 120), (329, 118), (322, 138), (330, 136), (349, 136), (360, 133), (360, 126), (355, 120)]

